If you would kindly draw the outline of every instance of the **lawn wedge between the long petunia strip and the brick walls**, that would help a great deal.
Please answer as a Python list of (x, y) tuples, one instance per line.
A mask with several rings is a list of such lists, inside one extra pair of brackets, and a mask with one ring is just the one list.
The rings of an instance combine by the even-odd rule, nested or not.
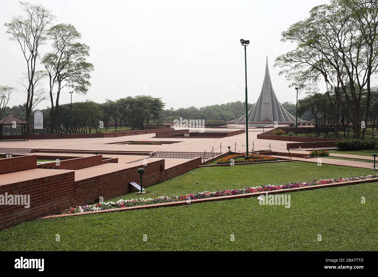
[[(206, 190), (241, 189), (258, 185), (281, 185), (292, 182), (307, 182), (314, 179), (344, 178), (369, 174), (375, 174), (375, 171), (368, 168), (330, 164), (318, 166), (316, 163), (299, 161), (235, 165), (232, 167), (202, 167), (160, 184), (146, 187), (147, 193), (143, 194), (142, 197), (155, 198)], [(139, 197), (138, 194), (130, 193), (112, 200)]]

